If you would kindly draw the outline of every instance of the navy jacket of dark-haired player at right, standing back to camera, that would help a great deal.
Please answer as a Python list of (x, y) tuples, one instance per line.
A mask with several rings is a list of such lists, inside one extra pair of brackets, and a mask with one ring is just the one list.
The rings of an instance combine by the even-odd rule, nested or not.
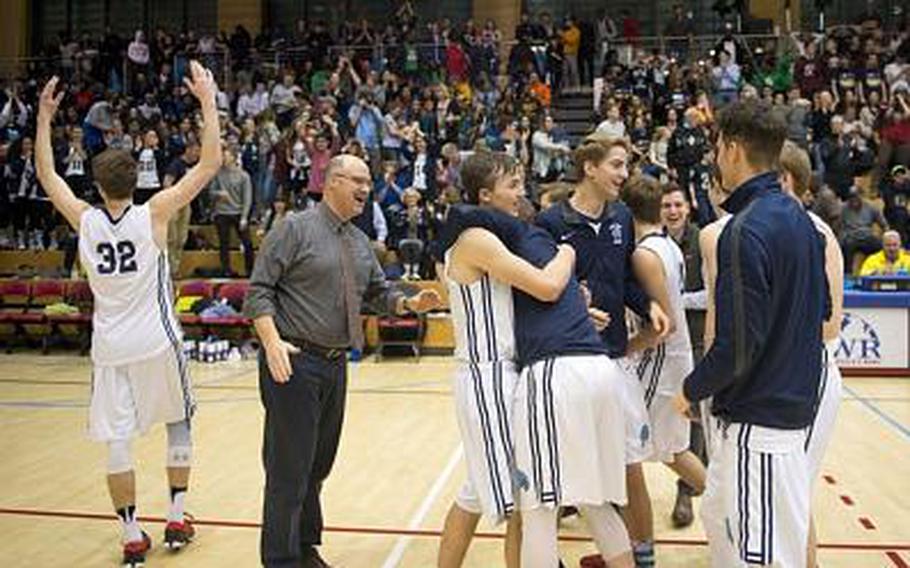
[(822, 323), (830, 313), (824, 238), (777, 174), (742, 184), (717, 247), (714, 344), (686, 378), (724, 421), (798, 429), (814, 416)]

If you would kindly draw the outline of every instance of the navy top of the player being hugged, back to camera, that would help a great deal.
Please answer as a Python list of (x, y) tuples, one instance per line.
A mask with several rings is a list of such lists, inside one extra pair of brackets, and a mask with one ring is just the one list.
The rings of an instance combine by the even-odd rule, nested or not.
[[(556, 242), (543, 229), (505, 213), (469, 206), (456, 206), (450, 211), (443, 231), (444, 250), (470, 227), (495, 234), (510, 251), (538, 268), (556, 256)], [(541, 302), (516, 289), (512, 297), (519, 366), (564, 355), (605, 353), (575, 278), (569, 279), (555, 302)]]

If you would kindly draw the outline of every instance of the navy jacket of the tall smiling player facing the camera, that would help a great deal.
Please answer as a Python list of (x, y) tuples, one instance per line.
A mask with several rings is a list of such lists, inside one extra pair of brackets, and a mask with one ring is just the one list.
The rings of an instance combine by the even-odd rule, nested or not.
[(568, 202), (537, 217), (537, 224), (557, 242), (575, 248), (575, 276), (591, 291), (591, 305), (610, 314), (610, 325), (601, 332), (604, 346), (610, 357), (622, 357), (629, 343), (625, 307), (647, 319), (650, 298), (632, 273), (635, 229), (629, 208), (611, 203), (596, 222), (600, 231), (595, 233), (590, 221)]

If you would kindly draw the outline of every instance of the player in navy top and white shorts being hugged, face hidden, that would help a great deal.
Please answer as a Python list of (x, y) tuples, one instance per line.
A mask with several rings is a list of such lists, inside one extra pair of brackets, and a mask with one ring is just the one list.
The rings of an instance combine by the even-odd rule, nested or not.
[[(535, 266), (557, 254), (546, 231), (491, 210), (461, 216), (459, 231), (480, 226)], [(452, 238), (451, 236), (449, 238)], [(516, 392), (515, 479), (522, 515), (521, 565), (552, 568), (560, 506), (578, 506), (608, 566), (633, 566), (616, 505), (626, 500), (622, 371), (604, 345), (575, 278), (555, 302), (520, 290), (515, 341), (523, 366)]]

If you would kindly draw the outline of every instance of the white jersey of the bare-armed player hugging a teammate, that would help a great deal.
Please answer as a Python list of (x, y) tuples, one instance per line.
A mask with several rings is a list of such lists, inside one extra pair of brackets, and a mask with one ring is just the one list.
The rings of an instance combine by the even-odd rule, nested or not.
[(446, 283), (455, 329), (455, 358), (471, 363), (514, 360), (512, 287), (489, 274), (471, 284), (459, 284), (451, 278), (446, 278)]

